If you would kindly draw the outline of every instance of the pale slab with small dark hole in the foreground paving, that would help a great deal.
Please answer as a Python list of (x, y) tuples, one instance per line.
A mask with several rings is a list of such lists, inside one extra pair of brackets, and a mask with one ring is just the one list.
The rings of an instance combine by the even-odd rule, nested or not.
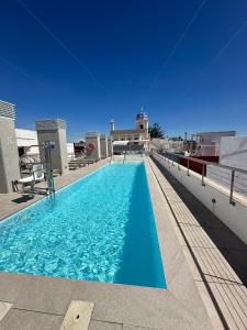
[(94, 304), (83, 300), (71, 300), (60, 330), (88, 330)]

